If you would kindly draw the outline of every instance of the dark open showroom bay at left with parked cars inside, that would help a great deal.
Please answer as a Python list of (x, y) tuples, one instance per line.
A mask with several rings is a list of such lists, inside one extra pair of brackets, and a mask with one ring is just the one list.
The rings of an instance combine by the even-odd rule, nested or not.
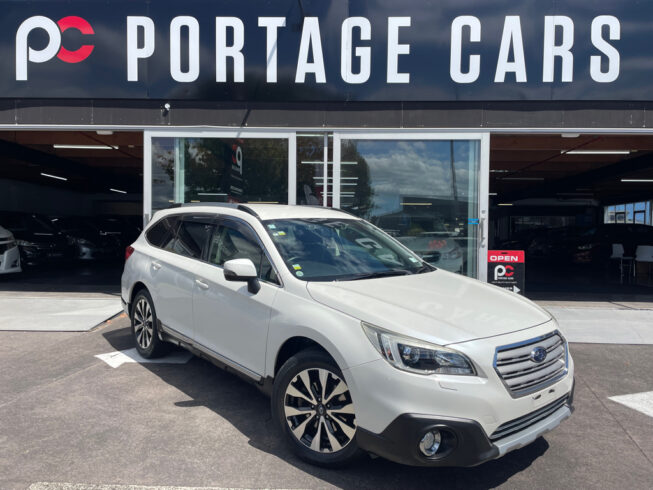
[(0, 226), (19, 244), (3, 290), (119, 290), (142, 229), (142, 132), (0, 131)]

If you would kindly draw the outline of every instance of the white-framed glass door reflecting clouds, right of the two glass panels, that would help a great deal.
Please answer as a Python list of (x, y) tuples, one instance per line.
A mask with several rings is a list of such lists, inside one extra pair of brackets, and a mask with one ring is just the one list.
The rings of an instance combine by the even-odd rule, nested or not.
[(333, 207), (436, 267), (486, 279), (489, 135), (338, 131), (333, 148)]

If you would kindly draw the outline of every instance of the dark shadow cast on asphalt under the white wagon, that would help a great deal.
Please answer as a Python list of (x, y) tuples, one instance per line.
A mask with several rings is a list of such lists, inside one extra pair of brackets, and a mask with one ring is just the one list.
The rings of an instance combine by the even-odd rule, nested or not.
[[(116, 350), (134, 345), (129, 328), (103, 335)], [(248, 438), (252, 447), (341, 488), (493, 488), (528, 468), (549, 448), (546, 440), (540, 438), (530, 446), (474, 468), (414, 468), (365, 457), (348, 468), (328, 470), (308, 465), (291, 453), (272, 423), (269, 399), (254, 385), (197, 357), (185, 365), (143, 364), (143, 367), (191, 399), (177, 402), (176, 406), (206, 407), (228, 420)]]

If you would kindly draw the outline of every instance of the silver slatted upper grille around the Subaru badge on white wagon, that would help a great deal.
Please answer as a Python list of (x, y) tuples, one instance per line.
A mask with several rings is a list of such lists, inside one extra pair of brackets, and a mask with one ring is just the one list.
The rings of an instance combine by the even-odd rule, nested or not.
[[(533, 360), (538, 347), (546, 349), (546, 358)], [(525, 342), (498, 347), (494, 369), (513, 397), (545, 388), (567, 373), (567, 342), (559, 332), (552, 332)]]

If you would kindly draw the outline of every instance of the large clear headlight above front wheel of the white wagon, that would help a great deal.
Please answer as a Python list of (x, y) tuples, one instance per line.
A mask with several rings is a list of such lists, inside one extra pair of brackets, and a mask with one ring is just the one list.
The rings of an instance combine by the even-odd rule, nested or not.
[(397, 369), (417, 374), (476, 374), (472, 362), (460, 352), (403, 337), (369, 323), (361, 322), (361, 326), (374, 348)]

